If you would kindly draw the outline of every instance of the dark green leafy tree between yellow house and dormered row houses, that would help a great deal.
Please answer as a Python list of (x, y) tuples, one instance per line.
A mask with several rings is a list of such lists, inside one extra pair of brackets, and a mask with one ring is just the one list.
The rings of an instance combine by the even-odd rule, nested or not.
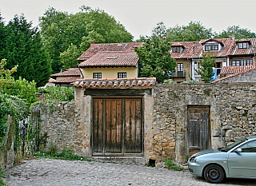
[(169, 79), (176, 66), (169, 51), (170, 43), (161, 37), (147, 38), (143, 46), (135, 48), (139, 57), (139, 76), (156, 77), (158, 82)]

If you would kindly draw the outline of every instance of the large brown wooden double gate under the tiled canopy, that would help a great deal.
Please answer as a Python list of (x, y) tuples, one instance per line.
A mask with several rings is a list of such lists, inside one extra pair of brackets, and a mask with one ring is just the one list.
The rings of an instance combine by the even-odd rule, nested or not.
[(142, 98), (94, 98), (93, 156), (142, 156)]

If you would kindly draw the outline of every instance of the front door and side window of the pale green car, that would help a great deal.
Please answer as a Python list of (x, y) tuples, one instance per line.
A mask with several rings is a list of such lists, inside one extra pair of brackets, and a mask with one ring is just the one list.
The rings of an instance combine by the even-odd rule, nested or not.
[(230, 152), (228, 168), (230, 176), (256, 177), (256, 140), (240, 147), (242, 152)]

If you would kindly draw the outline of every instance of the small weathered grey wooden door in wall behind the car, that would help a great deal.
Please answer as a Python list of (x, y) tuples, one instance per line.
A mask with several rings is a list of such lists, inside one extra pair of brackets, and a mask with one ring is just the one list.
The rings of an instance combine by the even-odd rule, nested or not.
[(190, 155), (209, 148), (210, 107), (188, 106), (187, 140)]

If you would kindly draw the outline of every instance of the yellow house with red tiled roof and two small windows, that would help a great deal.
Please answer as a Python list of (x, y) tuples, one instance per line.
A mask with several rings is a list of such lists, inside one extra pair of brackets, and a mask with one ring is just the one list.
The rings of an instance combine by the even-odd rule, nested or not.
[(142, 43), (90, 42), (90, 48), (78, 57), (84, 78), (138, 77), (138, 56), (134, 48)]

